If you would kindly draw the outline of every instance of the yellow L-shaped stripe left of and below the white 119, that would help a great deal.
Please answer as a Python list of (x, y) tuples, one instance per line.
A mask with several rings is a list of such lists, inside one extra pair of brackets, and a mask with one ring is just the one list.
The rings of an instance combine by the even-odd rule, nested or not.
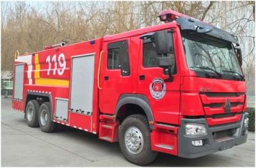
[(69, 86), (68, 80), (40, 78), (39, 56), (35, 54), (35, 85), (44, 86)]

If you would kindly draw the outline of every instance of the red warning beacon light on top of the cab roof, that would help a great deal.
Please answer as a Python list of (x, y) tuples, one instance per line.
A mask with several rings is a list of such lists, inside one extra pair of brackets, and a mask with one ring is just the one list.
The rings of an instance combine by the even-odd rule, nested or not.
[(158, 15), (159, 19), (165, 23), (168, 22), (173, 22), (173, 20), (176, 20), (179, 17), (186, 17), (186, 18), (191, 18), (188, 15), (184, 15), (182, 13), (179, 13), (177, 11), (173, 10), (164, 10), (161, 11)]

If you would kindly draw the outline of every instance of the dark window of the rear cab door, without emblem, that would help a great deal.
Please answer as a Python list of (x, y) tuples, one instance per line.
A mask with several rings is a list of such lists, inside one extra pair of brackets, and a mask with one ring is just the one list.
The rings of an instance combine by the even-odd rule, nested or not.
[(109, 43), (107, 67), (109, 70), (121, 69), (122, 76), (130, 75), (127, 41)]

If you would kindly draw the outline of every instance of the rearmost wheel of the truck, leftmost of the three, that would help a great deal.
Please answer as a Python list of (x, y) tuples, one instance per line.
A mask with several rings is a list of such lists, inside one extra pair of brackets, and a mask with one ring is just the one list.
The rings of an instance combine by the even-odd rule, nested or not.
[(25, 119), (28, 126), (32, 128), (38, 127), (38, 110), (40, 104), (36, 100), (30, 100), (26, 105)]

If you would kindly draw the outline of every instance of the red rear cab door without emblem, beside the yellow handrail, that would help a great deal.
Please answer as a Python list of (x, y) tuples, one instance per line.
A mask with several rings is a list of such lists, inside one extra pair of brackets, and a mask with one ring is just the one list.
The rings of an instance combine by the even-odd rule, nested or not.
[(115, 42), (105, 42), (103, 45), (103, 65), (100, 80), (100, 111), (114, 114), (120, 95), (131, 93), (132, 71), (130, 39), (125, 38)]

